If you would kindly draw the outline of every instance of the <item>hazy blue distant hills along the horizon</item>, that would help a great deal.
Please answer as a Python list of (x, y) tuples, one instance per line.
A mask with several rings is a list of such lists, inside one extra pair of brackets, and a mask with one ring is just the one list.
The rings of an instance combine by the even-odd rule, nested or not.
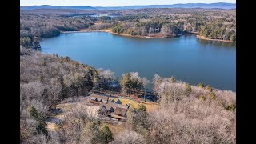
[(186, 3), (174, 5), (148, 5), (148, 6), (115, 6), (115, 7), (102, 7), (102, 6), (20, 6), (20, 10), (35, 10), (35, 9), (75, 9), (75, 10), (128, 10), (128, 9), (146, 9), (146, 8), (204, 8), (204, 9), (235, 9), (235, 3)]

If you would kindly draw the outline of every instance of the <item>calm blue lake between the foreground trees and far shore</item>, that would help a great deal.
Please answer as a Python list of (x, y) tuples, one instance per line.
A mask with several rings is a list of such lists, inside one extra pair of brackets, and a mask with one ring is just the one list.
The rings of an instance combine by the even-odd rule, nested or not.
[[(236, 46), (205, 41), (195, 35), (179, 38), (126, 38), (105, 32), (70, 33), (42, 39), (42, 52), (70, 58), (117, 77), (138, 71), (150, 79), (154, 74), (197, 85), (236, 91)], [(149, 85), (150, 87), (152, 85)]]

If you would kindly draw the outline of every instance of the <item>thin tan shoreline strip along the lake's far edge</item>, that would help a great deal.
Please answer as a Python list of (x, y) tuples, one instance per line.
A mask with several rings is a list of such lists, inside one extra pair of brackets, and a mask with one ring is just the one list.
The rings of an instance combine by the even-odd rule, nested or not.
[[(83, 33), (83, 32), (106, 32), (110, 34), (115, 34), (115, 35), (120, 35), (124, 37), (129, 37), (129, 38), (174, 38), (174, 37), (166, 37), (162, 34), (151, 34), (147, 36), (142, 36), (142, 35), (130, 35), (130, 34), (118, 34), (112, 32), (111, 29), (102, 29), (102, 30), (89, 30), (89, 29), (78, 29), (77, 31), (61, 31), (62, 34), (68, 34), (68, 33)], [(203, 38), (202, 36), (198, 35), (197, 32), (191, 32), (188, 34), (195, 34), (198, 39), (206, 40), (206, 41), (218, 41), (218, 42), (230, 42), (233, 43), (232, 41), (229, 40), (222, 40), (222, 39), (210, 39), (210, 38)], [(186, 35), (186, 34), (184, 34)]]

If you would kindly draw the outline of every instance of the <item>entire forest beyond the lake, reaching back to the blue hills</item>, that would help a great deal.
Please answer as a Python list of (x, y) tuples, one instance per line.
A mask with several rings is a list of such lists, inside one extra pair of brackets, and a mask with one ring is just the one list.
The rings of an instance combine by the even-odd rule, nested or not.
[[(107, 16), (91, 17), (97, 14)], [(96, 21), (101, 23), (95, 25)], [(236, 10), (21, 10), (20, 43), (24, 47), (40, 47), (40, 38), (86, 28), (139, 36), (197, 33), (202, 38), (236, 42)]]

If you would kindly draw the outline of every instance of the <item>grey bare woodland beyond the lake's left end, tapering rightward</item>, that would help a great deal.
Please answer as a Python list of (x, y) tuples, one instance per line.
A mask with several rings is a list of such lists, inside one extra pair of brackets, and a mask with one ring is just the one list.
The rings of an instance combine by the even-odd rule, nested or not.
[(58, 36), (60, 31), (75, 31), (93, 25), (95, 18), (60, 17), (41, 14), (21, 14), (20, 44), (24, 47), (40, 47), (39, 38)]

